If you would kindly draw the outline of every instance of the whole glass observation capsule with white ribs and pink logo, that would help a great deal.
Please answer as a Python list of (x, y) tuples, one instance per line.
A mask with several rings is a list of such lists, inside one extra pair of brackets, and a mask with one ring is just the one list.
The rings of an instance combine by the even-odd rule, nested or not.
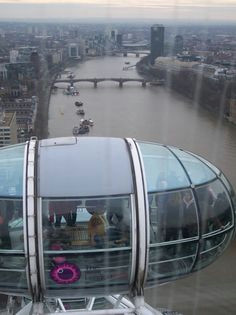
[(205, 159), (119, 138), (0, 150), (0, 291), (34, 300), (136, 292), (227, 247), (234, 192)]

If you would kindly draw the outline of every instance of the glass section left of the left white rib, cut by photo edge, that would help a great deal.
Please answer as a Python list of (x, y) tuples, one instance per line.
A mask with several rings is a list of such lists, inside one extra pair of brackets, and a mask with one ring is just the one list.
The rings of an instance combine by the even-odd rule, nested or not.
[(23, 226), (25, 145), (0, 149), (0, 290), (27, 289)]

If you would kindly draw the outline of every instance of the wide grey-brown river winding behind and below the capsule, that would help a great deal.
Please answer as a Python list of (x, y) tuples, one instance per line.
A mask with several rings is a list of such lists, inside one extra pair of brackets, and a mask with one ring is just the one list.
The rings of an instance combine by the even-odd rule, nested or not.
[[(125, 64), (130, 57), (99, 57), (68, 70), (76, 78), (141, 78)], [(67, 84), (57, 84), (66, 87)], [(236, 126), (164, 86), (142, 87), (140, 82), (75, 84), (79, 96), (58, 89), (49, 105), (49, 137), (71, 136), (79, 125), (75, 101), (84, 103), (85, 118), (95, 122), (89, 136), (132, 137), (170, 144), (193, 151), (218, 166), (236, 189)], [(184, 315), (233, 315), (236, 309), (236, 242), (210, 267), (190, 277), (146, 291), (153, 306), (168, 307)]]

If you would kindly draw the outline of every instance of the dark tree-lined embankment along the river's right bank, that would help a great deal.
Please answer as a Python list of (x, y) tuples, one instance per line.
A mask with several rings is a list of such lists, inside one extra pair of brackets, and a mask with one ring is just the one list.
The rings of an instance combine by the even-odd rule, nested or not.
[(214, 79), (193, 69), (172, 70), (165, 66), (151, 66), (149, 58), (144, 57), (137, 64), (138, 72), (151, 79), (164, 79), (166, 85), (176, 92), (193, 100), (194, 103), (208, 109), (219, 118), (227, 118), (236, 123), (232, 116), (232, 100), (235, 98), (236, 82)]

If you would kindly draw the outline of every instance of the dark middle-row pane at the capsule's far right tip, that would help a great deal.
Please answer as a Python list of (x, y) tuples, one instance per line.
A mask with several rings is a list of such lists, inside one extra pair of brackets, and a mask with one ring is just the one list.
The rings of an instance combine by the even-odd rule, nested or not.
[(196, 189), (202, 219), (202, 234), (224, 230), (232, 225), (233, 212), (228, 193), (216, 180)]

